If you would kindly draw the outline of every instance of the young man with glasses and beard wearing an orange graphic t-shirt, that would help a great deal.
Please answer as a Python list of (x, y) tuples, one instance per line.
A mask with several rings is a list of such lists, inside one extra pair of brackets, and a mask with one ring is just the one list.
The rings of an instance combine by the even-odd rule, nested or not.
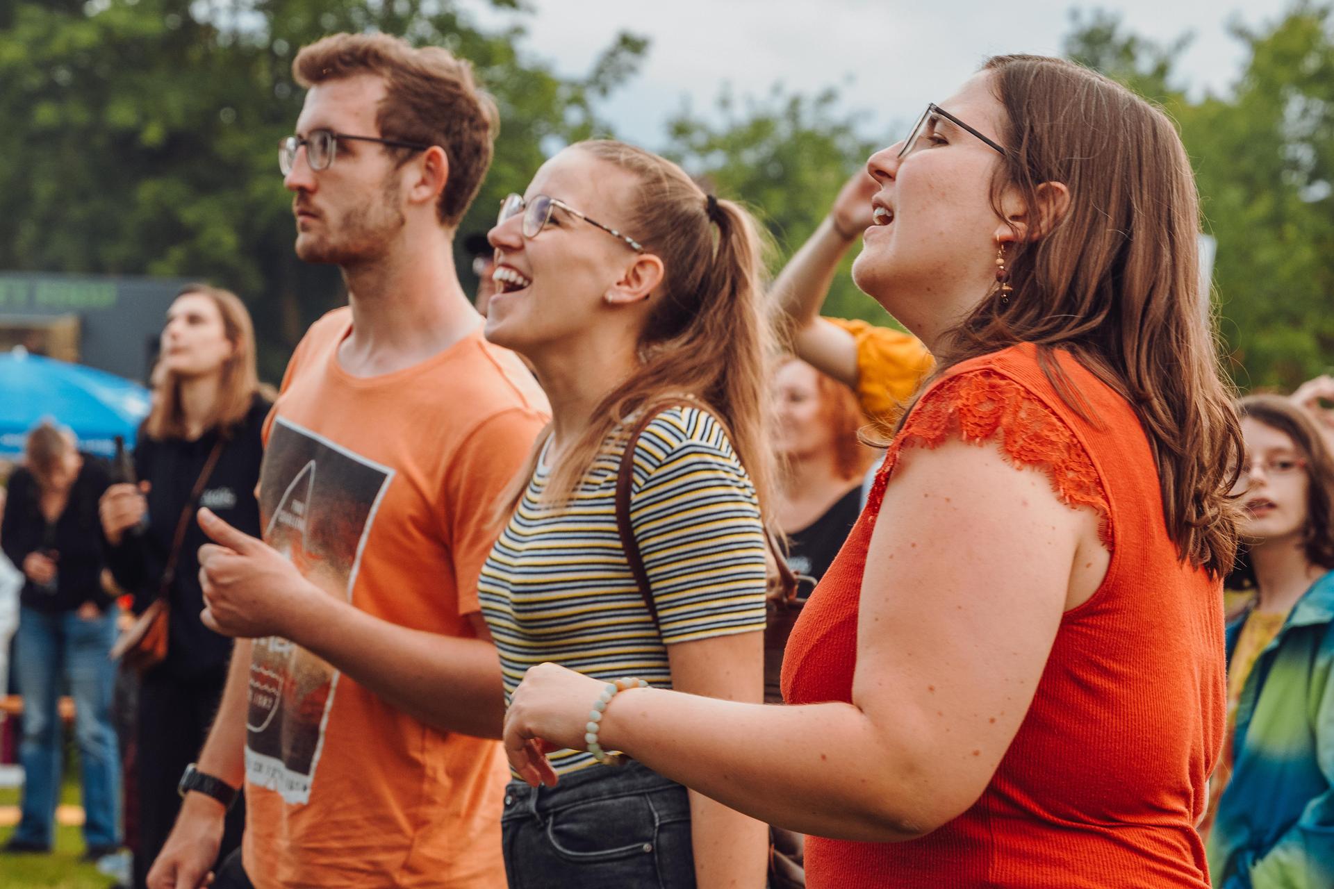
[(503, 885), (504, 757), (482, 738), (504, 701), (476, 582), (547, 407), (452, 264), (494, 109), (467, 63), (384, 35), (325, 37), (293, 72), (296, 253), (339, 265), (351, 305), (288, 364), (264, 540), (200, 513), (204, 621), (240, 641), (149, 886), (200, 885), (243, 780), (243, 856), (215, 886)]

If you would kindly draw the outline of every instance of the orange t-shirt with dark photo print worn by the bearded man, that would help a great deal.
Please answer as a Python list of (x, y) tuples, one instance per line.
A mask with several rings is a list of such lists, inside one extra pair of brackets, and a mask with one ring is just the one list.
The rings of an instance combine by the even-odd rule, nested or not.
[[(292, 355), (264, 429), (264, 540), (364, 612), (471, 637), (491, 510), (546, 399), (480, 328), (368, 379), (338, 363), (351, 329), (329, 312)], [(287, 640), (253, 652), (244, 865), (259, 889), (504, 886), (498, 742), (428, 728)]]

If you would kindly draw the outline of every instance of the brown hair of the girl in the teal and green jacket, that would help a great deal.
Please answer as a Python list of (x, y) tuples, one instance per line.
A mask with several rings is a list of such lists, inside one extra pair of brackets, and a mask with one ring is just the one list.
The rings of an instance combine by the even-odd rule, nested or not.
[(1238, 404), (1241, 416), (1282, 432), (1306, 466), (1306, 529), (1302, 546), (1313, 565), (1334, 569), (1334, 454), (1310, 416), (1277, 395), (1253, 395)]

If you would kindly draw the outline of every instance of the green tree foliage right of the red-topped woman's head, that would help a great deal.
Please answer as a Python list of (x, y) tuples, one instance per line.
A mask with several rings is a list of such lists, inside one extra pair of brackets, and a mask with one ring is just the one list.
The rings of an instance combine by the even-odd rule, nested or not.
[(1066, 52), (1161, 101), (1177, 120), (1218, 241), (1215, 296), (1242, 388), (1290, 391), (1334, 364), (1334, 28), (1301, 1), (1234, 36), (1250, 52), (1222, 96), (1173, 85), (1185, 39), (1163, 47), (1107, 13), (1075, 17)]

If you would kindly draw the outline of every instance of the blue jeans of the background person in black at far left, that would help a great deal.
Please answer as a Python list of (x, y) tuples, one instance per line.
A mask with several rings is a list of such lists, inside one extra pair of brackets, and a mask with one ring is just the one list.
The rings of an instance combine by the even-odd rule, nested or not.
[(120, 844), (120, 753), (111, 720), (116, 665), (116, 608), (83, 620), (73, 612), (23, 608), (15, 637), (15, 669), (23, 694), (23, 816), (13, 838), (51, 845), (60, 796), (63, 726), (56, 712), (64, 684), (75, 700), (75, 741), (83, 766), (84, 842)]

